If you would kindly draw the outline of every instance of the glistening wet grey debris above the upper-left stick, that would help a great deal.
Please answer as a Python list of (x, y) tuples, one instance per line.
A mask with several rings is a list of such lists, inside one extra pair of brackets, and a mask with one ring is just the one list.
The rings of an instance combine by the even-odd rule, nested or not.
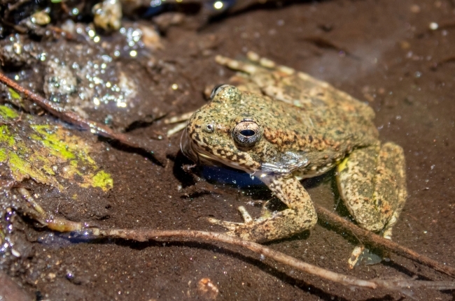
[[(142, 115), (150, 115), (153, 107), (137, 98), (137, 82), (144, 76), (116, 61), (119, 57), (132, 58), (133, 54), (141, 56), (141, 50), (146, 47), (142, 42), (143, 31), (137, 27), (122, 29), (118, 41), (106, 43), (106, 49), (66, 40), (37, 43), (16, 34), (0, 41), (0, 60), (8, 69), (21, 68), (12, 75), (20, 84), (36, 92), (43, 91), (45, 98), (65, 110), (73, 110), (85, 118), (98, 110), (104, 114), (98, 117), (99, 121), (111, 115), (112, 124), (125, 127)], [(94, 35), (90, 30), (88, 35)], [(160, 45), (159, 40), (155, 43)], [(3, 91), (11, 100), (8, 91)], [(15, 105), (22, 107), (17, 102)]]

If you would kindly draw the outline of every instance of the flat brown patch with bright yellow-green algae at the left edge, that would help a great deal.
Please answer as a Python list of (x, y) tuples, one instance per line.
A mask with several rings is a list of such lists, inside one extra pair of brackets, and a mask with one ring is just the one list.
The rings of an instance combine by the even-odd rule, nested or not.
[(72, 184), (103, 191), (113, 187), (111, 175), (90, 156), (92, 143), (63, 126), (22, 116), (6, 105), (0, 105), (0, 124), (0, 162), (15, 181), (31, 178), (60, 191)]

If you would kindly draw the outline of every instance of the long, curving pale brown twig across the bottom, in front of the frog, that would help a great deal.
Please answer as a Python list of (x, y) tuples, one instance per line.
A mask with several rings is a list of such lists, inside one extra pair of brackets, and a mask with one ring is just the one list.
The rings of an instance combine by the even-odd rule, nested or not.
[(339, 274), (330, 270), (325, 270), (322, 267), (305, 263), (302, 260), (293, 258), (279, 251), (265, 247), (262, 244), (242, 240), (239, 237), (232, 237), (223, 233), (197, 231), (197, 230), (147, 230), (147, 229), (102, 229), (90, 226), (88, 223), (69, 221), (63, 218), (57, 218), (45, 212), (34, 198), (30, 195), (29, 191), (25, 188), (18, 188), (22, 198), (26, 200), (31, 207), (25, 206), (25, 214), (28, 214), (32, 219), (35, 219), (43, 226), (51, 230), (59, 232), (73, 232), (75, 235), (83, 237), (111, 237), (122, 238), (125, 240), (134, 240), (137, 242), (146, 242), (148, 240), (155, 240), (158, 237), (186, 237), (190, 239), (209, 240), (210, 242), (225, 242), (234, 244), (239, 247), (249, 249), (261, 256), (267, 256), (279, 263), (294, 267), (307, 274), (312, 274), (323, 279), (334, 281), (344, 286), (356, 286), (358, 288), (385, 288), (389, 291), (399, 291), (406, 295), (410, 295), (409, 288), (433, 288), (437, 290), (455, 289), (454, 281), (415, 281), (412, 279), (379, 279), (374, 278), (370, 280), (358, 279), (353, 276)]

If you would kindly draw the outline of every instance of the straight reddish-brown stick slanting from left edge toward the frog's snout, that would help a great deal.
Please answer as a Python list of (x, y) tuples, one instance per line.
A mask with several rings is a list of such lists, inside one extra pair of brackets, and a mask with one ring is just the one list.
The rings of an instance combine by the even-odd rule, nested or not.
[(52, 101), (48, 101), (43, 96), (40, 96), (30, 91), (29, 89), (20, 86), (17, 82), (11, 80), (1, 72), (0, 82), (3, 82), (3, 84), (7, 85), (8, 87), (15, 89), (15, 91), (18, 91), (18, 93), (25, 95), (25, 97), (29, 98), (31, 101), (36, 103), (36, 105), (39, 105), (41, 108), (43, 108), (50, 114), (54, 115), (59, 119), (64, 120), (65, 122), (69, 122), (71, 124), (75, 124), (76, 126), (80, 126), (81, 128), (89, 130), (97, 135), (118, 140), (123, 145), (127, 145), (129, 147), (134, 147), (138, 149), (144, 149), (146, 152), (150, 152), (151, 154), (153, 154), (153, 157), (160, 161), (160, 163), (162, 163), (163, 165), (166, 161), (165, 154), (153, 152), (155, 146), (151, 145), (151, 143), (147, 139), (139, 139), (131, 135), (118, 133), (110, 129), (108, 126), (104, 126), (103, 124), (99, 124), (98, 122), (92, 122), (89, 119), (80, 117), (76, 113), (71, 112), (69, 110), (65, 110), (64, 108), (61, 108), (59, 105), (52, 103)]

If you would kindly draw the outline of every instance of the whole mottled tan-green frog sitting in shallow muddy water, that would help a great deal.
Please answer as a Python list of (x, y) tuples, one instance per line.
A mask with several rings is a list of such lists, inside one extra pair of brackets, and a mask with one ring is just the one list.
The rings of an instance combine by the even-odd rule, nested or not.
[[(253, 242), (309, 230), (317, 215), (301, 180), (335, 168), (339, 195), (358, 226), (391, 239), (407, 198), (405, 155), (379, 140), (370, 105), (254, 52), (243, 61), (218, 55), (216, 62), (237, 74), (188, 119), (181, 151), (258, 177), (287, 208), (253, 219), (240, 206), (243, 223), (209, 221)], [(362, 251), (354, 249), (351, 266)]]

